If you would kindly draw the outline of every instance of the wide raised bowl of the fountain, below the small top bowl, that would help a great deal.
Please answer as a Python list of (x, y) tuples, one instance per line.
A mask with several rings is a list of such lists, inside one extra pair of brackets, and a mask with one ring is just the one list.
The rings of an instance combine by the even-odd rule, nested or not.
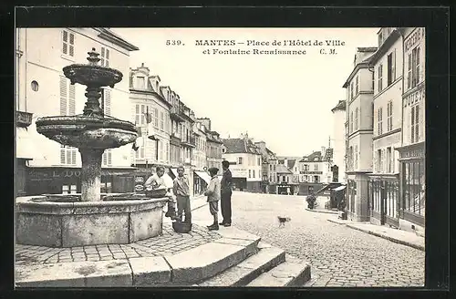
[(138, 137), (130, 121), (88, 116), (40, 118), (36, 131), (58, 143), (90, 149), (118, 148)]

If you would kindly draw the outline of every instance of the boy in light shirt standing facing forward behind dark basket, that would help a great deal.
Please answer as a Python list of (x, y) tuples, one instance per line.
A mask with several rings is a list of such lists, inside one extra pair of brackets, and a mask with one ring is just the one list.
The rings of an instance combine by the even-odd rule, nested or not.
[(189, 179), (184, 176), (183, 166), (177, 169), (178, 176), (173, 181), (172, 191), (177, 200), (177, 219), (182, 221), (182, 211), (185, 213), (185, 222), (192, 223), (192, 210), (190, 208)]

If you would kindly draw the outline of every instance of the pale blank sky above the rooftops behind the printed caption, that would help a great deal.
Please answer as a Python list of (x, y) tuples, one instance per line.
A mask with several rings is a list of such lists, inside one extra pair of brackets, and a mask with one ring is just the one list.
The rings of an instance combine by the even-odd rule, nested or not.
[[(197, 118), (211, 119), (211, 129), (222, 138), (247, 132), (279, 156), (298, 157), (328, 146), (334, 127), (331, 108), (345, 99), (342, 86), (353, 70), (356, 48), (377, 46), (378, 40), (376, 27), (111, 29), (140, 48), (130, 53), (130, 67), (144, 63)], [(212, 39), (234, 40), (236, 45), (196, 46), (197, 40)], [(181, 45), (167, 45), (167, 40)], [(273, 46), (275, 40), (282, 45)], [(304, 46), (284, 46), (284, 40)], [(345, 45), (314, 45), (326, 40)], [(251, 55), (213, 54), (230, 48), (250, 50)], [(254, 49), (275, 48), (306, 50), (306, 55), (253, 55)], [(337, 54), (320, 54), (322, 48)]]

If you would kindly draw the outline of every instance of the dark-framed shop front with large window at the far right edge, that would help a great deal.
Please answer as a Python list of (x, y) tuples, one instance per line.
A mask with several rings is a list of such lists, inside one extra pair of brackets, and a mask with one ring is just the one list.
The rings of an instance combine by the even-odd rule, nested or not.
[(410, 230), (412, 225), (425, 226), (426, 171), (424, 141), (399, 148), (400, 188), (399, 224)]

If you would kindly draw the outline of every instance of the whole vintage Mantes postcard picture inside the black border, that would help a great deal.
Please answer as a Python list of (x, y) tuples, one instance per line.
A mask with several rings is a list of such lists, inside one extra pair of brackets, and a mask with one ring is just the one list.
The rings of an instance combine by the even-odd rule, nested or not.
[(422, 287), (424, 27), (17, 27), (16, 287)]

